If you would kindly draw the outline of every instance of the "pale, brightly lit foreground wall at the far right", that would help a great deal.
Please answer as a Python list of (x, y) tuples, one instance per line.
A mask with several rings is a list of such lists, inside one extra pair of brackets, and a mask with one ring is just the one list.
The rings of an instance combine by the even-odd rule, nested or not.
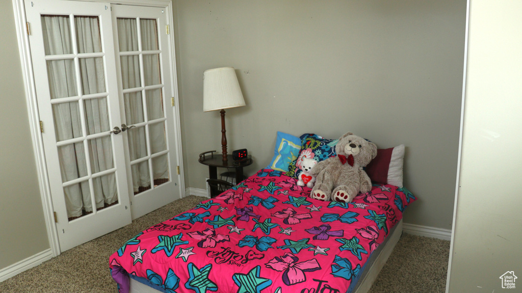
[[(520, 15), (520, 1), (470, 2), (449, 292), (522, 291)], [(518, 280), (503, 290), (500, 277), (508, 271)]]

